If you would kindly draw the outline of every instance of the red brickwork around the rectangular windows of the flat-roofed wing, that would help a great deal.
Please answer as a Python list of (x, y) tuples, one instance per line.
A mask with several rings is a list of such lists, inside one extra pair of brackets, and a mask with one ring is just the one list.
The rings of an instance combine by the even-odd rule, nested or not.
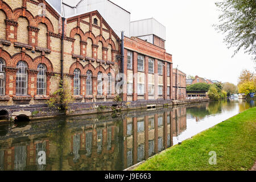
[[(133, 55), (132, 69), (128, 69), (128, 52)], [(138, 71), (138, 55), (143, 57), (143, 71)], [(154, 60), (154, 73), (148, 73), (148, 60)], [(162, 74), (158, 74), (158, 61), (162, 61), (163, 68)], [(172, 55), (168, 54), (165, 49), (162, 49), (154, 44), (148, 43), (139, 38), (127, 38), (125, 37), (125, 61), (124, 61), (124, 70), (126, 74), (127, 82), (133, 80), (133, 96), (127, 96), (126, 93), (129, 93), (127, 88), (125, 88), (123, 94), (124, 101), (138, 101), (138, 100), (170, 100), (172, 98), (171, 92), (167, 95), (167, 86), (171, 86), (172, 78), (167, 76), (167, 67), (169, 67), (170, 75), (172, 75)], [(128, 76), (129, 73), (133, 75)], [(141, 80), (142, 79), (144, 80)], [(144, 94), (138, 96), (138, 84), (144, 86)], [(148, 85), (154, 85), (154, 95), (148, 95)], [(158, 94), (158, 86), (163, 87), (163, 94)]]

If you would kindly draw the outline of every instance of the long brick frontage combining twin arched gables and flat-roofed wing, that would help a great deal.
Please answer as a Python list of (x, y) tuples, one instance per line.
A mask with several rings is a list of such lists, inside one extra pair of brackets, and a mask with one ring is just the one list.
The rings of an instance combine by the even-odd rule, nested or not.
[[(113, 102), (121, 39), (97, 10), (63, 18), (48, 1), (0, 0), (0, 27), (0, 105), (45, 104), (61, 77), (76, 103)], [(163, 46), (125, 37), (124, 101), (172, 98)]]

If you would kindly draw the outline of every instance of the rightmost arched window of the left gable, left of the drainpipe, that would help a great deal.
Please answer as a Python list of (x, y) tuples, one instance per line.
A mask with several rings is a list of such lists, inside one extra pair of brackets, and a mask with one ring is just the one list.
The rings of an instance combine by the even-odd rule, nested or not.
[(38, 65), (38, 77), (36, 81), (36, 94), (38, 96), (46, 96), (46, 65)]

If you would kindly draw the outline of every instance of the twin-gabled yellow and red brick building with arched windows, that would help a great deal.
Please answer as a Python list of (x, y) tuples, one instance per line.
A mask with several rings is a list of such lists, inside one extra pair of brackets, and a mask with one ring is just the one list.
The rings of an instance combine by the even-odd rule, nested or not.
[[(38, 15), (46, 5), (43, 15)], [(59, 86), (61, 16), (46, 1), (0, 1), (1, 104), (40, 104)], [(65, 19), (63, 73), (76, 102), (112, 100), (119, 38), (98, 11)], [(103, 81), (102, 81), (103, 80)], [(108, 90), (107, 90), (108, 88)], [(22, 101), (22, 102), (21, 102)]]

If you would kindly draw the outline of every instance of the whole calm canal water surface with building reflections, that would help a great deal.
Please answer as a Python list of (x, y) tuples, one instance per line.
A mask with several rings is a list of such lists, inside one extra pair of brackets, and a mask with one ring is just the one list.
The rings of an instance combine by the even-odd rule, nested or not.
[(249, 107), (228, 100), (0, 124), (0, 171), (123, 170)]

